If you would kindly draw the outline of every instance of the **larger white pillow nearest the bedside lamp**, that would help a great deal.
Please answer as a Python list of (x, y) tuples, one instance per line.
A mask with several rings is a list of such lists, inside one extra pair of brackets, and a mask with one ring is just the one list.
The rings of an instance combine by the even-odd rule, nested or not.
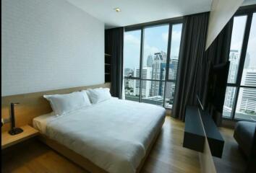
[(86, 92), (72, 92), (69, 94), (43, 95), (54, 110), (56, 115), (64, 115), (80, 107), (90, 106), (90, 99)]

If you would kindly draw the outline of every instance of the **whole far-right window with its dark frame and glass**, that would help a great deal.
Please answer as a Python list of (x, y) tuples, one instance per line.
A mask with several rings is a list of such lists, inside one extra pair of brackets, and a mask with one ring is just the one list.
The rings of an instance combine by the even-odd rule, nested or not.
[(234, 17), (223, 116), (256, 120), (256, 13)]

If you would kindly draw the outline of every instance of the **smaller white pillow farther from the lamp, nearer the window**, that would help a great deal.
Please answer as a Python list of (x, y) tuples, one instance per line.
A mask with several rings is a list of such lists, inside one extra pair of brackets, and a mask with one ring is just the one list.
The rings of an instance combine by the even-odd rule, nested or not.
[(103, 102), (104, 100), (111, 99), (111, 94), (108, 88), (88, 89), (86, 93), (90, 97), (93, 104)]

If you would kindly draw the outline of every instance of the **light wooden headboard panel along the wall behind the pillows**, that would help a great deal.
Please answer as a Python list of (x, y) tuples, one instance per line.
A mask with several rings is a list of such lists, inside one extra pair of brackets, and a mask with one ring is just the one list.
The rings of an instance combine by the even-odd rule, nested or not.
[[(32, 120), (34, 117), (38, 117), (39, 115), (43, 115), (52, 111), (48, 101), (43, 98), (44, 94), (67, 94), (70, 92), (77, 92), (82, 89), (98, 88), (98, 87), (110, 88), (110, 83), (1, 97), (1, 117), (9, 118), (10, 103), (19, 102), (20, 104), (15, 105), (15, 110), (14, 110), (16, 127), (20, 127), (22, 125), (27, 125), (27, 124), (32, 125)], [(1, 128), (2, 131), (6, 131), (9, 129), (10, 129), (10, 123), (5, 123)]]

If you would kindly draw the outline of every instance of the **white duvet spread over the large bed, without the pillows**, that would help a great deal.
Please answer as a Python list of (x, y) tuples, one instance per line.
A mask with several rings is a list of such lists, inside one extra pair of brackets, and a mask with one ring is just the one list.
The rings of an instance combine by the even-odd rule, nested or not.
[(164, 118), (163, 107), (111, 98), (68, 115), (43, 117), (38, 130), (107, 172), (130, 173)]

